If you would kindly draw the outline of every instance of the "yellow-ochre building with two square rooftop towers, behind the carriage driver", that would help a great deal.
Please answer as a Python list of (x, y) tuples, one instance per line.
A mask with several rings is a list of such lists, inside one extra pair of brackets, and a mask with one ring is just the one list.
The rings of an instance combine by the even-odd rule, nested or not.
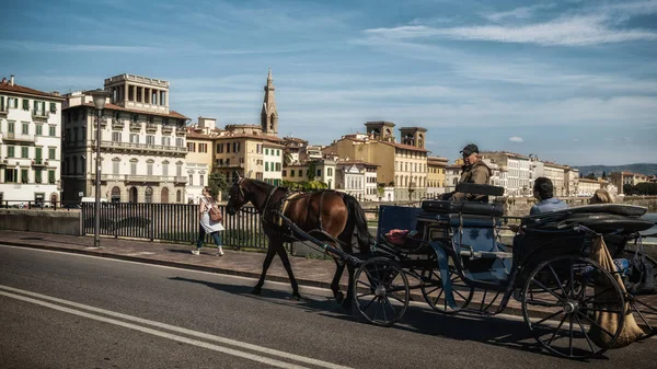
[(379, 165), (377, 181), (394, 186), (395, 200), (419, 199), (427, 193), (427, 155), (424, 148), (426, 129), (404, 127), (402, 143), (395, 142), (394, 123), (368, 122), (367, 135), (347, 135), (324, 148), (325, 154), (341, 159), (362, 160)]

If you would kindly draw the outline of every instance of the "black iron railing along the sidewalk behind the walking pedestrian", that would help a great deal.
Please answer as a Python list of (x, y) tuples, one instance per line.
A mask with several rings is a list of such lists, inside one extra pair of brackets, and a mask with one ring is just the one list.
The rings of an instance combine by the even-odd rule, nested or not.
[[(82, 203), (82, 232), (94, 234), (95, 204)], [(234, 216), (223, 215), (222, 243), (232, 247), (266, 249), (267, 238), (262, 231), (260, 215), (253, 207), (244, 207)], [(102, 203), (100, 234), (115, 238), (147, 239), (196, 243), (199, 233), (198, 205)], [(212, 243), (206, 235), (206, 243)]]

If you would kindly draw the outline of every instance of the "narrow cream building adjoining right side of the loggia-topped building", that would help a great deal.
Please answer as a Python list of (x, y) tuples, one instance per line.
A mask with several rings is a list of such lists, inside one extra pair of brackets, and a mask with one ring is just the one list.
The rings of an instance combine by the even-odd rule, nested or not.
[(217, 119), (198, 117), (198, 123), (187, 128), (187, 157), (185, 175), (187, 175), (186, 200), (198, 204), (203, 188), (208, 185), (212, 173), (214, 140), (221, 134), (217, 128)]

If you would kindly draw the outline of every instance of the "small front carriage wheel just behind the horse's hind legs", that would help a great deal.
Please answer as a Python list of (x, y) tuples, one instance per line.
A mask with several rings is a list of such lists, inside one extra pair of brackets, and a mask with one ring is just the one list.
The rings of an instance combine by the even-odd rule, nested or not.
[(368, 322), (391, 326), (408, 307), (408, 279), (404, 272), (385, 257), (365, 262), (354, 278), (354, 299), (358, 312)]

